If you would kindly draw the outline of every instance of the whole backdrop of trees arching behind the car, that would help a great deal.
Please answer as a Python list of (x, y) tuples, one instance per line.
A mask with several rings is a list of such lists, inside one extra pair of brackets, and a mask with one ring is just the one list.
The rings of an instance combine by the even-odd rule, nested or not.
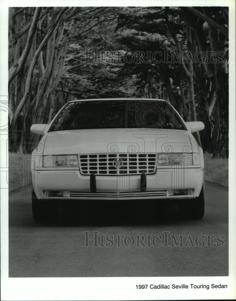
[[(9, 146), (31, 148), (30, 126), (72, 99), (167, 97), (185, 121), (204, 122), (204, 151), (227, 156), (227, 33), (220, 7), (9, 8)], [(224, 62), (197, 63), (199, 51)]]

